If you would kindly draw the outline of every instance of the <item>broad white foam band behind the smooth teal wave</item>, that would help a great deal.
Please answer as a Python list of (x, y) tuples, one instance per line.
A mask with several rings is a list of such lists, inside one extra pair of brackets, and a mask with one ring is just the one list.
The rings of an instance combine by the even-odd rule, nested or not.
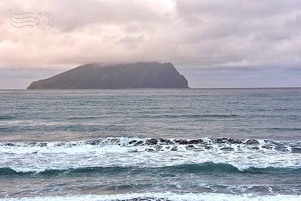
[[(132, 143), (134, 140), (141, 144)], [(242, 140), (239, 144), (231, 144), (203, 138), (205, 143), (190, 147), (189, 144), (177, 143), (173, 139), (169, 143), (159, 140), (153, 144), (147, 140), (111, 137), (94, 141), (1, 142), (0, 167), (37, 172), (81, 167), (163, 167), (204, 162), (228, 163), (239, 170), (250, 167), (301, 167), (301, 153), (287, 151), (289, 144), (298, 145), (295, 142), (258, 140), (257, 144), (247, 144), (246, 140)], [(229, 149), (224, 149), (227, 147)]]

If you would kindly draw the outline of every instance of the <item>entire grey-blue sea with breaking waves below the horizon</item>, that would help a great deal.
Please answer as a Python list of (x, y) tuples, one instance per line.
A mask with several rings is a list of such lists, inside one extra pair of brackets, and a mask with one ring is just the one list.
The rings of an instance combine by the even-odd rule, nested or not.
[(301, 88), (0, 90), (0, 200), (301, 200)]

